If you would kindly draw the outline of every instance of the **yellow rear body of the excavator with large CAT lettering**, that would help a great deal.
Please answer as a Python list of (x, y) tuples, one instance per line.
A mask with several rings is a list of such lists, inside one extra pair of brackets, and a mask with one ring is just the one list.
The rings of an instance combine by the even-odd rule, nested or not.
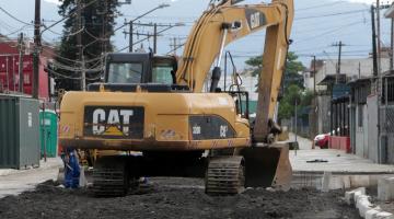
[[(84, 129), (95, 125), (83, 123), (85, 106), (142, 106), (142, 138), (128, 138), (117, 124), (106, 127), (108, 135), (85, 136)], [(198, 127), (190, 124), (190, 116), (222, 119), (222, 130), (220, 126), (210, 129), (218, 138), (193, 139)], [(235, 135), (229, 138), (232, 131)], [(68, 92), (61, 103), (60, 142), (79, 149), (192, 151), (248, 147), (251, 132), (247, 119), (235, 114), (232, 97), (224, 93)]]

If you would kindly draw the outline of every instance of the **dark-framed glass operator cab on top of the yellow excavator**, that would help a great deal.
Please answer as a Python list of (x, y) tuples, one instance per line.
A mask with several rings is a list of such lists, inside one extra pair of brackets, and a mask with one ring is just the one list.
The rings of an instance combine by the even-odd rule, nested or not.
[(104, 83), (89, 84), (89, 91), (136, 92), (138, 88), (148, 92), (169, 93), (187, 91), (187, 85), (176, 84), (177, 61), (173, 56), (155, 56), (151, 53), (106, 56)]

